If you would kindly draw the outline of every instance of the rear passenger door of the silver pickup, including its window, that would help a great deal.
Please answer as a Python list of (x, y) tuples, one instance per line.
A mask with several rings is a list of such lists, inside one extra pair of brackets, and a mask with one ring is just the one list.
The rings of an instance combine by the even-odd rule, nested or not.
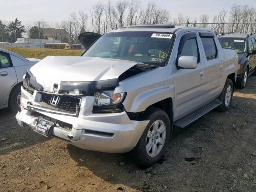
[(220, 82), (222, 79), (222, 71), (224, 62), (224, 53), (222, 48), (218, 49), (218, 39), (212, 32), (199, 32), (200, 41), (202, 43), (203, 56), (205, 63), (205, 86), (203, 95), (203, 104), (206, 104), (220, 94)]

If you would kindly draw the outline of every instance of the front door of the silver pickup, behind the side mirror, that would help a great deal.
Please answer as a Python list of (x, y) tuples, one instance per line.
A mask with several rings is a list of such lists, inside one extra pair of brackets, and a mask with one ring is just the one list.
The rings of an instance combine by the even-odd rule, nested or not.
[(205, 65), (196, 32), (187, 32), (182, 35), (176, 58), (176, 68), (178, 68), (177, 64), (180, 56), (195, 56), (198, 59), (198, 64), (195, 69), (180, 68), (174, 73), (176, 94), (176, 106), (174, 106), (175, 119), (189, 114), (198, 109), (202, 104)]

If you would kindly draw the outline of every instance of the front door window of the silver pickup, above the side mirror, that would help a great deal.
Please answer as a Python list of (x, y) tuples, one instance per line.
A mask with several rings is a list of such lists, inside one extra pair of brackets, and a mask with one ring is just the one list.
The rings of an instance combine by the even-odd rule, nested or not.
[(198, 60), (198, 46), (196, 38), (186, 40), (181, 50), (181, 53), (178, 55), (178, 58), (180, 58), (181, 56), (194, 56)]

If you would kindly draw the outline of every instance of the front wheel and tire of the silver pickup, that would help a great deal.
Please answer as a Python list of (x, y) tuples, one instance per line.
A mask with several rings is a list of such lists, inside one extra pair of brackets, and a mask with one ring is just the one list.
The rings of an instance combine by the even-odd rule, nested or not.
[(170, 140), (171, 128), (168, 115), (161, 109), (149, 108), (145, 118), (150, 122), (130, 153), (139, 166), (149, 167), (164, 155)]

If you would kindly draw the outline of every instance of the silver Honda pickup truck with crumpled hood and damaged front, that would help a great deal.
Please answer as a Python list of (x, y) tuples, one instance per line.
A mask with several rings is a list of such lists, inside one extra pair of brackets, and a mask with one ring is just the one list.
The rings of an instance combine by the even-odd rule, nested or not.
[(127, 26), (80, 41), (94, 41), (80, 57), (48, 56), (27, 70), (20, 126), (150, 166), (175, 128), (230, 106), (238, 56), (212, 30)]

